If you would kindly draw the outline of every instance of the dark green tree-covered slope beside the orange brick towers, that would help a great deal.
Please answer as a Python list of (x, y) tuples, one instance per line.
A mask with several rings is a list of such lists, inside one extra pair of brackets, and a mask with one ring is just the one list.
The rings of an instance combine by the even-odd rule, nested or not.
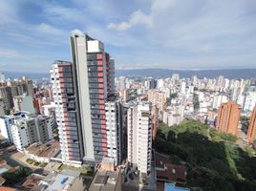
[(203, 190), (256, 190), (256, 158), (250, 147), (240, 148), (237, 137), (217, 132), (196, 120), (168, 127), (160, 124), (155, 149), (184, 161), (187, 185)]

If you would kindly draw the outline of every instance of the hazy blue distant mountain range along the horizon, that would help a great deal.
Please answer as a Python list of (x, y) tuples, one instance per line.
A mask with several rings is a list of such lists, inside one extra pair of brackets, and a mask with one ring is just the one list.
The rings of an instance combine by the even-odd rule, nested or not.
[[(170, 77), (172, 74), (180, 74), (181, 77), (191, 77), (197, 75), (199, 78), (213, 78), (219, 75), (224, 75), (227, 78), (252, 78), (256, 77), (256, 69), (224, 69), (224, 70), (169, 70), (169, 69), (136, 69), (136, 70), (116, 70), (116, 76), (152, 76), (155, 78)], [(6, 77), (21, 78), (29, 76), (32, 79), (50, 78), (49, 73), (34, 74), (34, 73), (13, 73), (5, 72)]]

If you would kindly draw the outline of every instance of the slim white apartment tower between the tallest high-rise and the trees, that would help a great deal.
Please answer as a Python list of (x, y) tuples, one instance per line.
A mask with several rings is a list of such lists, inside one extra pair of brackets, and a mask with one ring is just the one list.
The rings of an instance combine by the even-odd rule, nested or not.
[(128, 109), (128, 161), (141, 175), (151, 171), (152, 109), (150, 102), (138, 102)]

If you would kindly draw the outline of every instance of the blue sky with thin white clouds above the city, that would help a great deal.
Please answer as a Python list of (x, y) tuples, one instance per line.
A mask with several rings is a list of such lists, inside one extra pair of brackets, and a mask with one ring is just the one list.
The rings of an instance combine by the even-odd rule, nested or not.
[(116, 69), (256, 68), (255, 0), (0, 0), (0, 70), (49, 73), (76, 29)]

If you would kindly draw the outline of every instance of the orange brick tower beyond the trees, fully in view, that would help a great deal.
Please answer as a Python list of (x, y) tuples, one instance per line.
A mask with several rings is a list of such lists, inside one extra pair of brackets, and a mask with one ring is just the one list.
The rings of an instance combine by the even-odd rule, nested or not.
[(222, 104), (218, 110), (217, 130), (236, 135), (240, 112), (240, 106), (234, 101)]

